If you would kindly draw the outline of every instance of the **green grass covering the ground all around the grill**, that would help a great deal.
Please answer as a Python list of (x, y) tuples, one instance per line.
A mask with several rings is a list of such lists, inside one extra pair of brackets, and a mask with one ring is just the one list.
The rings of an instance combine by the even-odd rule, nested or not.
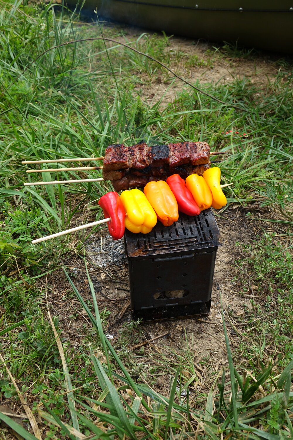
[[(101, 39), (59, 46), (101, 38), (97, 23), (80, 25), (78, 15), (63, 6), (58, 12), (43, 4), (1, 5), (1, 356), (41, 420), (43, 439), (292, 438), (292, 63), (276, 59), (274, 79), (266, 84), (243, 76), (229, 84), (193, 81), (196, 90), (154, 60), (116, 43), (106, 43), (108, 52)], [(179, 76), (210, 69), (219, 60), (256, 56), (227, 44), (190, 56), (173, 49), (165, 34), (133, 38), (118, 26), (102, 31), (105, 38), (159, 59)], [(169, 90), (177, 86), (172, 103), (165, 103), (166, 92), (146, 99), (156, 84)], [(104, 333), (109, 311), (99, 311), (84, 260), (83, 242), (90, 232), (30, 244), (33, 238), (98, 219), (96, 201), (111, 187), (95, 182), (24, 188), (27, 179), (39, 177), (26, 175), (22, 160), (96, 157), (109, 143), (129, 145), (142, 138), (149, 143), (198, 139), (213, 150), (230, 151), (221, 164), (224, 183), (233, 182), (225, 189), (228, 206), (242, 205), (247, 221), (260, 209), (263, 220), (274, 222), (275, 231), (238, 246), (233, 289), (252, 291), (257, 300), (242, 318), (222, 310), (223, 323), (239, 341), (232, 346), (224, 327), (227, 370), (213, 370), (209, 358), (197, 363), (186, 333), (179, 348), (149, 351), (150, 364), (145, 365), (143, 348), (129, 352), (141, 341), (139, 322), (125, 323), (119, 345), (111, 345)], [(62, 167), (58, 173), (43, 173), (43, 179), (101, 175)], [(76, 286), (72, 261), (85, 267), (90, 300)], [(51, 308), (53, 277), (62, 286), (58, 301), (79, 301), (87, 316), (78, 343), (64, 335), (58, 311)], [(80, 309), (72, 307), (70, 313), (68, 319), (74, 319)], [(160, 393), (157, 379), (167, 375), (170, 383)], [(21, 408), (3, 365), (0, 397)], [(1, 412), (0, 418), (23, 438), (36, 438), (31, 428)], [(8, 435), (1, 425), (0, 438)]]

